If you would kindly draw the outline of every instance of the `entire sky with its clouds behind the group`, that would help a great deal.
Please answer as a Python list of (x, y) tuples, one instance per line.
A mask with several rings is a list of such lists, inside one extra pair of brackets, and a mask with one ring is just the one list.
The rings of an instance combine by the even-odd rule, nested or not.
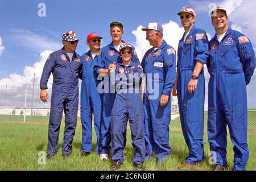
[[(38, 16), (39, 3), (46, 5), (45, 17)], [(103, 37), (101, 46), (105, 46), (111, 42), (109, 23), (122, 22), (123, 40), (133, 44), (141, 58), (150, 48), (141, 27), (149, 22), (163, 24), (164, 39), (176, 48), (184, 32), (177, 13), (182, 7), (191, 6), (196, 11), (196, 27), (203, 28), (212, 38), (214, 28), (208, 12), (214, 5), (226, 7), (229, 26), (247, 35), (255, 50), (256, 20), (248, 19), (255, 16), (253, 11), (248, 11), (256, 7), (255, 0), (1, 0), (0, 87), (27, 84), (34, 73), (38, 86), (44, 62), (49, 53), (62, 47), (61, 34), (68, 30), (75, 30), (81, 39), (77, 52), (82, 55), (88, 51), (86, 36), (89, 32), (98, 32)], [(256, 85), (255, 75), (253, 85)], [(255, 100), (256, 94), (253, 97)]]

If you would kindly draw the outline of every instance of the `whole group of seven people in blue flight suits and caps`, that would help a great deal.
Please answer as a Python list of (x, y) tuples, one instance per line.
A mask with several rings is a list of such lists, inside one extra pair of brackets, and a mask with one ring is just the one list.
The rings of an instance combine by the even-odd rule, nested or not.
[[(100, 48), (102, 37), (87, 36), (89, 51), (81, 57), (75, 52), (79, 39), (74, 31), (63, 34), (64, 47), (49, 55), (40, 80), (40, 99), (48, 99), (47, 82), (53, 75), (51, 113), (48, 127), (47, 159), (57, 154), (63, 111), (65, 130), (63, 157), (71, 154), (75, 135), (79, 78), (81, 84), (82, 156), (92, 153), (92, 117), (97, 135), (96, 152), (101, 160), (112, 153), (112, 169), (121, 167), (129, 120), (133, 164), (144, 169), (143, 162), (155, 154), (157, 163), (171, 155), (169, 125), (171, 94), (177, 96), (181, 128), (189, 154), (178, 169), (197, 168), (204, 154), (204, 64), (210, 73), (208, 86), (208, 140), (214, 156), (213, 170), (228, 169), (226, 126), (234, 144), (231, 170), (245, 170), (249, 158), (247, 146), (246, 85), (253, 75), (256, 59), (250, 40), (228, 26), (223, 7), (210, 11), (216, 35), (195, 27), (196, 13), (183, 7), (177, 14), (184, 34), (176, 51), (163, 39), (163, 27), (148, 23), (142, 28), (150, 48), (139, 62), (133, 46), (122, 40), (123, 24), (110, 23), (112, 43)], [(144, 81), (142, 81), (144, 80)], [(144, 84), (144, 89), (141, 90)], [(236, 90), (236, 92), (234, 92)], [(111, 143), (111, 146), (110, 146)]]

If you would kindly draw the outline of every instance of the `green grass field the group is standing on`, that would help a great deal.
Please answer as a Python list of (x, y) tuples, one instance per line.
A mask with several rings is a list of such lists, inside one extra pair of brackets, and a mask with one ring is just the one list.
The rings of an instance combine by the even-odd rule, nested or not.
[[(256, 169), (256, 142), (255, 131), (255, 114), (253, 119), (249, 119), (248, 145), (250, 149), (250, 158), (247, 164), (247, 170)], [(206, 117), (207, 118), (207, 117)], [(59, 151), (55, 158), (47, 160), (46, 164), (38, 164), (39, 152), (47, 152), (47, 132), (48, 117), (30, 117), (23, 123), (22, 116), (0, 115), (0, 170), (110, 170), (110, 161), (100, 160), (100, 156), (93, 152), (87, 157), (81, 157), (81, 123), (80, 118), (77, 120), (77, 129), (73, 140), (72, 154), (70, 158), (63, 159), (61, 156), (64, 122), (60, 128)], [(253, 123), (254, 122), (254, 123)], [(170, 145), (172, 147), (171, 157), (163, 165), (156, 166), (156, 159), (146, 160), (144, 167), (146, 170), (167, 171), (177, 170), (188, 154), (188, 148), (185, 145), (183, 134), (181, 132), (180, 120), (176, 118), (171, 121)], [(250, 129), (251, 127), (251, 129)], [(205, 125), (205, 129), (207, 125)], [(131, 146), (130, 130), (127, 130), (127, 144), (125, 148), (125, 162), (120, 170), (135, 170), (131, 160), (133, 158), (133, 147)], [(209, 143), (207, 133), (204, 134), (205, 156), (206, 160), (197, 170), (210, 170), (212, 167), (209, 163)], [(93, 133), (93, 151), (95, 151), (96, 138)], [(227, 147), (228, 164), (233, 164), (233, 144), (228, 136)]]

